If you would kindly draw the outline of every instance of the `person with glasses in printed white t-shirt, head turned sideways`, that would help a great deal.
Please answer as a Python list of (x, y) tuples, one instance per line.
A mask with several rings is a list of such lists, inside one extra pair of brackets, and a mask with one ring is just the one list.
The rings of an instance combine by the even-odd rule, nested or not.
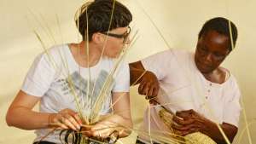
[[(112, 80), (108, 76), (125, 45), (130, 43), (131, 20), (130, 10), (118, 1), (84, 3), (75, 15), (82, 41), (56, 45), (37, 56), (9, 107), (7, 124), (36, 130), (37, 144), (60, 144), (65, 141), (62, 137), (60, 140), (61, 130), (78, 132), (81, 128), (86, 129), (85, 136), (109, 143), (130, 135), (131, 131), (126, 129), (132, 127), (128, 63), (121, 61)], [(109, 88), (99, 111), (102, 119), (84, 127), (86, 123), (80, 113), (88, 115), (99, 108), (94, 105), (107, 80)], [(82, 107), (80, 112), (77, 101)], [(38, 102), (39, 112), (33, 111)], [(51, 132), (53, 128), (57, 130)]]

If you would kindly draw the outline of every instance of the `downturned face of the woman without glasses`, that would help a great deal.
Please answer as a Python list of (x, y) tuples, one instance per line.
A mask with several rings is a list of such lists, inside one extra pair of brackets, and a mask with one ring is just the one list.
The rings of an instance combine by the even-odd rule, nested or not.
[(197, 42), (195, 65), (201, 73), (214, 71), (230, 53), (230, 38), (216, 31), (204, 33)]

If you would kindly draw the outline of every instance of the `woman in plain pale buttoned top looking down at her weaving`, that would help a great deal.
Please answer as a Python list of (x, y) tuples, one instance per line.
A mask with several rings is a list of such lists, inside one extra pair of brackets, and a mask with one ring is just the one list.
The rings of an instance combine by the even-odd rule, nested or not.
[[(155, 105), (149, 107), (149, 116), (149, 110), (145, 112), (142, 131), (147, 133), (150, 125), (152, 135), (170, 138), (170, 132), (182, 136), (201, 132), (216, 143), (226, 143), (219, 125), (232, 142), (241, 92), (236, 78), (220, 64), (235, 48), (236, 39), (234, 23), (217, 17), (202, 26), (195, 53), (168, 49), (131, 63), (131, 84), (137, 81), (139, 94)], [(162, 109), (169, 114), (162, 115)], [(151, 141), (139, 135), (137, 143)]]

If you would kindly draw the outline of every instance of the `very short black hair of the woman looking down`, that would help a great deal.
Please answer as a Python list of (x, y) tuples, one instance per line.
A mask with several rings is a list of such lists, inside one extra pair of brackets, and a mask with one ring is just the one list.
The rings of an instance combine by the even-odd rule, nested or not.
[[(233, 37), (233, 45), (236, 46), (236, 39), (237, 39), (237, 29), (235, 24), (230, 21), (231, 26), (231, 32)], [(225, 36), (230, 38), (230, 26), (229, 26), (229, 20), (225, 19), (223, 17), (216, 17), (211, 20), (207, 20), (207, 22), (202, 26), (201, 31), (198, 34), (198, 38), (206, 34), (210, 31), (216, 31), (220, 34), (224, 34)], [(230, 38), (231, 39), (231, 38)], [(231, 40), (230, 40), (230, 51), (231, 48)]]

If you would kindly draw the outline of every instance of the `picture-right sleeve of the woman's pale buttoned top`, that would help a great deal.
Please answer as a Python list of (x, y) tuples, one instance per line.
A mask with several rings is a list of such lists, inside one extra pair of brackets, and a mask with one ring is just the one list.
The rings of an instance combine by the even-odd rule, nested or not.
[(234, 124), (238, 127), (241, 106), (240, 106), (240, 97), (241, 92), (236, 83), (236, 79), (234, 78), (233, 84), (230, 85), (230, 99), (228, 99), (225, 103), (224, 107), (224, 119), (223, 121), (228, 124)]

